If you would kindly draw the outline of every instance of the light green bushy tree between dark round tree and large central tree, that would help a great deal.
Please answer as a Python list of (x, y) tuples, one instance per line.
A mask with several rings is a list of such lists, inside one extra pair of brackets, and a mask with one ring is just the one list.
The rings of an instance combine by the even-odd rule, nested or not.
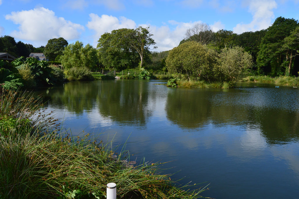
[(90, 44), (83, 47), (82, 42), (76, 41), (64, 48), (60, 61), (65, 69), (72, 67), (92, 69), (97, 64), (97, 51)]

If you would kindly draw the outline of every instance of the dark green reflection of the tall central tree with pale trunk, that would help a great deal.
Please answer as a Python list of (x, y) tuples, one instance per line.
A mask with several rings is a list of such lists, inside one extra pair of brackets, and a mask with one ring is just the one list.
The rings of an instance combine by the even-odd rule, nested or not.
[(122, 123), (146, 124), (149, 110), (148, 82), (144, 80), (103, 81), (97, 93), (100, 114)]

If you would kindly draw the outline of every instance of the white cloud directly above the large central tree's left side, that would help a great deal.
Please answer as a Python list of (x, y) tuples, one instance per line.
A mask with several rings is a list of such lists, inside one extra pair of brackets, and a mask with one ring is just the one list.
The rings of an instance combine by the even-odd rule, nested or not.
[(136, 23), (127, 19), (126, 17), (120, 17), (119, 19), (115, 16), (102, 15), (98, 16), (97, 14), (91, 13), (89, 14), (91, 21), (89, 21), (86, 25), (90, 30), (94, 30), (94, 43), (93, 45), (97, 45), (97, 40), (101, 37), (105, 32), (111, 32), (112, 30), (117, 30), (120, 28), (136, 28)]

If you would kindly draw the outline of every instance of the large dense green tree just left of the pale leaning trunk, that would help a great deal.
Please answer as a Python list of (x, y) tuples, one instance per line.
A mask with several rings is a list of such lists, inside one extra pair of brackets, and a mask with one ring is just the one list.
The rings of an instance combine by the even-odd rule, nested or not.
[(127, 42), (131, 32), (132, 29), (121, 28), (104, 33), (98, 40), (98, 57), (105, 68), (122, 70), (138, 65), (139, 55)]

